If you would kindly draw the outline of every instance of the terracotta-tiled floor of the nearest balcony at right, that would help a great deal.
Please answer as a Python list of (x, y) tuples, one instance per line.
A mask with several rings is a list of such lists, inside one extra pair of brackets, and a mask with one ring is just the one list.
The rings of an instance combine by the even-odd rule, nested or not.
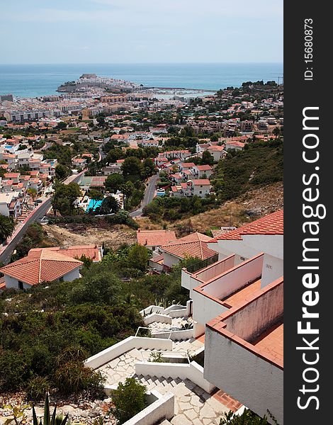
[(283, 361), (283, 322), (274, 324), (252, 341), (251, 344), (262, 353), (269, 354), (277, 360)]

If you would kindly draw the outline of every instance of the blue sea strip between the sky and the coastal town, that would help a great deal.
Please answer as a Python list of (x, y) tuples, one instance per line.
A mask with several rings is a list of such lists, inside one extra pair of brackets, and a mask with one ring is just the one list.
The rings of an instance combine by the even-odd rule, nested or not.
[(55, 94), (65, 81), (84, 73), (125, 79), (144, 86), (184, 89), (225, 89), (244, 81), (275, 80), (282, 63), (227, 64), (0, 64), (0, 94), (37, 97)]

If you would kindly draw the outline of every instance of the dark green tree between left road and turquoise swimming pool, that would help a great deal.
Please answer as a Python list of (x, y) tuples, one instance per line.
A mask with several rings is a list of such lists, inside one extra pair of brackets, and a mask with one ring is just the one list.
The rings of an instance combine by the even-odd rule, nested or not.
[(74, 202), (81, 196), (81, 189), (77, 183), (58, 184), (52, 198), (52, 208), (61, 215), (72, 215), (74, 212)]

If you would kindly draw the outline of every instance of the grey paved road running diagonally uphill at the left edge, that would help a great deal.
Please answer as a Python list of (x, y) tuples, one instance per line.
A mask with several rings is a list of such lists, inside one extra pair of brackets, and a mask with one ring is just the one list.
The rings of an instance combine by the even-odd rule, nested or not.
[[(71, 182), (77, 183), (77, 181), (79, 181), (81, 174), (83, 174), (83, 172), (81, 172), (80, 174), (74, 174), (72, 176), (69, 176), (64, 183), (65, 184), (69, 184)], [(30, 214), (26, 220), (26, 222), (22, 223), (18, 228), (17, 232), (14, 232), (14, 237), (9, 240), (9, 243), (6, 245), (6, 248), (3, 249), (3, 251), (0, 254), (0, 261), (3, 263), (8, 263), (9, 260), (11, 259), (11, 254), (13, 253), (13, 250), (16, 248), (16, 245), (18, 244), (18, 242), (21, 241), (21, 239), (23, 238), (24, 234), (26, 233), (29, 225), (31, 225), (33, 222), (35, 222), (36, 220), (40, 220), (40, 218), (44, 217), (44, 215), (46, 214), (47, 210), (50, 209), (51, 206), (51, 202), (52, 202), (52, 196), (50, 198), (48, 198), (47, 200), (45, 200), (45, 202), (43, 204), (41, 204), (38, 208), (36, 208), (33, 211), (33, 214)]]

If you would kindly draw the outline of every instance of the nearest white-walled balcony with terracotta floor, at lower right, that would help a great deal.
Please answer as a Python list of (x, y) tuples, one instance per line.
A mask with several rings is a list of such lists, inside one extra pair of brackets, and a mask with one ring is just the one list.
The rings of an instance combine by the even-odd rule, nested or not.
[(283, 424), (283, 277), (208, 322), (204, 378)]

